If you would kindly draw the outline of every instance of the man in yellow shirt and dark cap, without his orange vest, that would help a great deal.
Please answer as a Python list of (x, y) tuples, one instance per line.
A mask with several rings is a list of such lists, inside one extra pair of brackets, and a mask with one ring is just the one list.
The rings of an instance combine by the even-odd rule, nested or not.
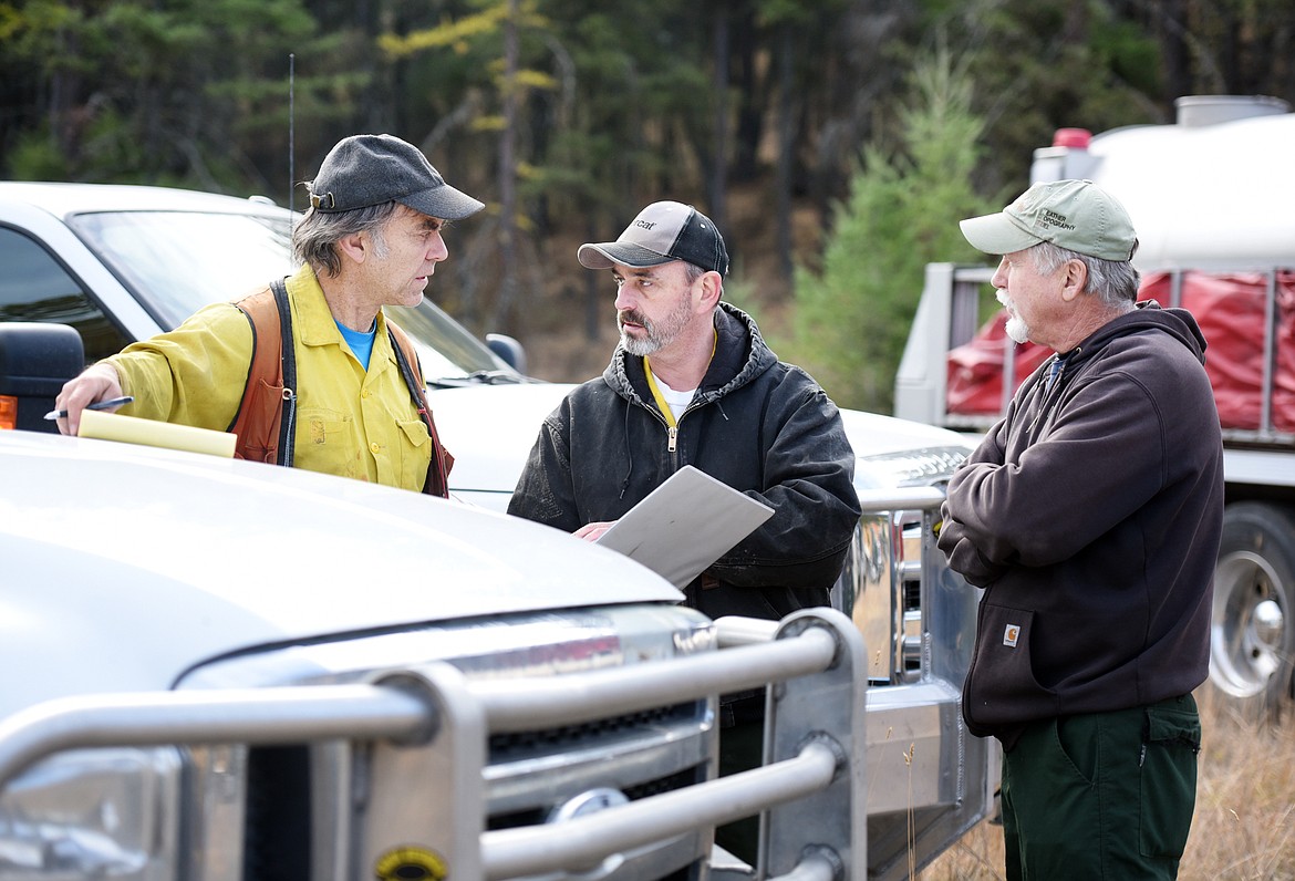
[[(300, 378), (293, 464), (422, 490), (433, 455), (443, 451), (411, 396), (382, 307), (422, 301), (448, 257), (444, 223), (483, 205), (391, 135), (338, 143), (310, 190), (311, 207), (293, 229), (302, 267), (284, 282)], [(69, 381), (57, 400), (67, 411), (58, 428), (76, 434), (87, 404), (133, 395), (126, 415), (225, 431), (238, 415), (254, 345), (242, 311), (207, 306)]]

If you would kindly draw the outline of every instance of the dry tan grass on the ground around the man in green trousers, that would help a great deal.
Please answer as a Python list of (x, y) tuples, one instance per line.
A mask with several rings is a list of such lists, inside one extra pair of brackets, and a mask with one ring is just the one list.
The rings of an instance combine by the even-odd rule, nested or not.
[[(1198, 696), (1203, 720), (1197, 812), (1180, 881), (1295, 881), (1295, 714), (1238, 719)], [(1004, 878), (1002, 828), (982, 823), (919, 881)]]

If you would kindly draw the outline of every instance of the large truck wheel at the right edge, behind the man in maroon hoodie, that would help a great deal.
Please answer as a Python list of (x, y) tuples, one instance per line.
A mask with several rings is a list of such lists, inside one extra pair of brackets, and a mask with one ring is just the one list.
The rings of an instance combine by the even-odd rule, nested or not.
[(1210, 681), (1243, 716), (1269, 719), (1291, 697), (1295, 520), (1254, 501), (1228, 505), (1215, 570)]

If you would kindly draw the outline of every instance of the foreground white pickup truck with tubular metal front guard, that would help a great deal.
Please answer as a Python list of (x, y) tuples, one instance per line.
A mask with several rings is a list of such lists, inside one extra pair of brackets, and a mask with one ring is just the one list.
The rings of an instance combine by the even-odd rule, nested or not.
[[(0, 878), (686, 877), (760, 808), (774, 875), (862, 851), (839, 613), (711, 622), (360, 481), (28, 431), (0, 463)], [(769, 681), (786, 761), (714, 781), (717, 694)]]

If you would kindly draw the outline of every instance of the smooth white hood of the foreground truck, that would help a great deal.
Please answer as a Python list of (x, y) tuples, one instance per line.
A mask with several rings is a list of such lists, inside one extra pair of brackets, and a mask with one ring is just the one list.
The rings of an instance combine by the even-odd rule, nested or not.
[(27, 431), (0, 431), (0, 640), (31, 659), (0, 715), (271, 644), (681, 599), (546, 526), (363, 481)]

